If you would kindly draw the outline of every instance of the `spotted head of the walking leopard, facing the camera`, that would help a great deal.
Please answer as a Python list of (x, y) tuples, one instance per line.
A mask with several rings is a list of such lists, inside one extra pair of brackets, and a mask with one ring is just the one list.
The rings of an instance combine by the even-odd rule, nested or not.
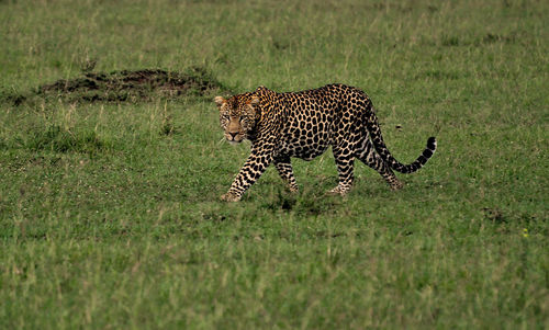
[(214, 99), (220, 110), (220, 124), (229, 143), (249, 138), (259, 120), (259, 99), (253, 94), (235, 95), (227, 100)]

